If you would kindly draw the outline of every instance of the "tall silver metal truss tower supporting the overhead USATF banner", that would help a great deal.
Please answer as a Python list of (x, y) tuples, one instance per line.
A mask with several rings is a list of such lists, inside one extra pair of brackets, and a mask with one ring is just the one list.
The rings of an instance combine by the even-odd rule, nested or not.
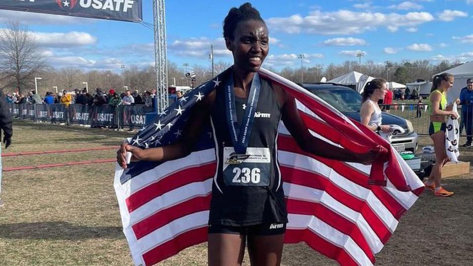
[(168, 48), (166, 43), (165, 0), (153, 0), (154, 60), (158, 111), (168, 107)]

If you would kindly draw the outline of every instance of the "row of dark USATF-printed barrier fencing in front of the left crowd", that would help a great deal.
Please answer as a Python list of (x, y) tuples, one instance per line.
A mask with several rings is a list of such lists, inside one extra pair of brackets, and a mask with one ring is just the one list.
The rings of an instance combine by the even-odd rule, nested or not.
[(69, 123), (100, 127), (136, 127), (146, 124), (146, 105), (89, 106), (82, 104), (8, 103), (13, 117), (51, 123)]

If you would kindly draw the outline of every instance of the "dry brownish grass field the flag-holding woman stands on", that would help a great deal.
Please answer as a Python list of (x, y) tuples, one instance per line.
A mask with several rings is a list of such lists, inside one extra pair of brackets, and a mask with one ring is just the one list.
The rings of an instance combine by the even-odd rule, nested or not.
[[(116, 146), (127, 136), (15, 120), (13, 144), (3, 152)], [(427, 137), (420, 140), (421, 145), (430, 143)], [(472, 148), (461, 153), (463, 161), (473, 159)], [(114, 157), (112, 149), (2, 160), (3, 167), (12, 167)], [(4, 172), (0, 265), (132, 265), (113, 190), (114, 167), (105, 163)], [(426, 191), (377, 254), (378, 265), (472, 264), (472, 176), (446, 179), (444, 185), (456, 195), (435, 198)], [(282, 264), (335, 265), (305, 244), (286, 245)], [(184, 250), (161, 265), (206, 265), (206, 245)]]

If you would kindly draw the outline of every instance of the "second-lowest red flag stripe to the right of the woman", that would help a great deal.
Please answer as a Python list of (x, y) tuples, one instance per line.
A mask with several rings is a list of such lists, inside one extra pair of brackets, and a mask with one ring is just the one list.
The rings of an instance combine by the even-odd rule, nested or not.
[(374, 263), (373, 252), (365, 240), (365, 236), (357, 227), (357, 225), (345, 217), (339, 215), (321, 203), (308, 202), (303, 200), (288, 199), (288, 213), (308, 214), (317, 217), (326, 224), (344, 233), (353, 239), (355, 243), (365, 252), (366, 256)]

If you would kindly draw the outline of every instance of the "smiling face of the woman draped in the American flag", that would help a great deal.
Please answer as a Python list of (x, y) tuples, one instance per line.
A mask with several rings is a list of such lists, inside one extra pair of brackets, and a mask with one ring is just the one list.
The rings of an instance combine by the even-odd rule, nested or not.
[(238, 23), (234, 39), (225, 43), (233, 53), (234, 65), (245, 72), (257, 72), (270, 50), (268, 28), (259, 20)]

